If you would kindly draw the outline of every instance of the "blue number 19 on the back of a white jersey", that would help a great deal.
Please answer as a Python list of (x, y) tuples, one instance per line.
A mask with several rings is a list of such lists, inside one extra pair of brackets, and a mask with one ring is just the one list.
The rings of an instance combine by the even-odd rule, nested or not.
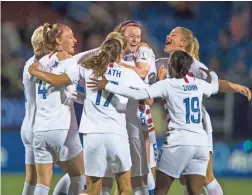
[[(186, 123), (200, 123), (199, 98), (185, 98), (183, 103), (186, 108)], [(197, 117), (195, 117), (195, 114), (197, 114)]]

